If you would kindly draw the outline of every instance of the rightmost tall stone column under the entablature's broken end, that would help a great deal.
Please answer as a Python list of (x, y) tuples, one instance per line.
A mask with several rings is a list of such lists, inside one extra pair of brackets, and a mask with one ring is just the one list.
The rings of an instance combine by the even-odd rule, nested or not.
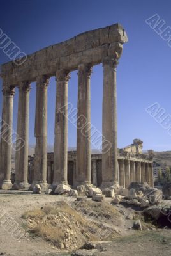
[(103, 60), (102, 187), (118, 185), (116, 67), (117, 59)]

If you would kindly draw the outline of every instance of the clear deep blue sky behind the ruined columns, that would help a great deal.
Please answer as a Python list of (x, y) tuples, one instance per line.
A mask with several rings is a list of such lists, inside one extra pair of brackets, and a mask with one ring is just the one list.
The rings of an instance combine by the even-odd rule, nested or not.
[[(22, 51), (30, 54), (48, 45), (68, 40), (84, 31), (121, 23), (128, 34), (117, 67), (118, 147), (144, 141), (144, 149), (170, 150), (171, 136), (145, 108), (158, 102), (171, 115), (171, 47), (145, 20), (157, 13), (171, 26), (171, 2), (115, 0), (1, 0), (0, 28)], [(0, 64), (9, 61), (0, 49)], [(0, 81), (2, 86), (2, 81)], [(29, 143), (34, 144), (36, 90), (31, 84)], [(91, 122), (102, 127), (103, 68), (93, 68), (91, 77)], [(77, 72), (71, 73), (69, 101), (77, 107)], [(56, 83), (48, 88), (48, 144), (54, 143)], [(17, 124), (18, 92), (15, 94), (13, 128)], [(2, 95), (0, 95), (0, 113)], [(1, 115), (1, 114), (0, 114)], [(76, 129), (68, 124), (68, 144), (76, 145)]]

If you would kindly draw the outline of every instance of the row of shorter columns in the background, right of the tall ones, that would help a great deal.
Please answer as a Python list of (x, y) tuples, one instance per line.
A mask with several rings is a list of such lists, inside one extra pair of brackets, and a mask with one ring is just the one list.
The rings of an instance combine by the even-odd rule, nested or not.
[(119, 185), (128, 188), (131, 182), (148, 182), (154, 186), (152, 162), (119, 159)]

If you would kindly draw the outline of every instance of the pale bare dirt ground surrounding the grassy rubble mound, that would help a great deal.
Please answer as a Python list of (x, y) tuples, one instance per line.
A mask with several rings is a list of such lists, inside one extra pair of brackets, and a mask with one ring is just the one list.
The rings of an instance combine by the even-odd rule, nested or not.
[[(27, 194), (27, 195), (26, 195)], [(75, 200), (75, 198), (63, 198), (56, 195), (33, 195), (30, 192), (0, 192), (0, 255), (5, 256), (31, 256), (31, 255), (71, 255), (61, 251), (50, 241), (41, 237), (33, 237), (27, 232), (24, 220), (21, 216), (24, 212), (33, 209), (41, 209), (45, 205), (56, 205), (57, 201)], [(95, 205), (96, 206), (96, 205)], [(81, 205), (84, 207), (84, 205)], [(93, 206), (92, 206), (93, 207)], [(96, 207), (97, 208), (97, 207)], [(133, 220), (128, 218), (130, 209), (123, 206), (115, 206), (118, 212), (124, 216), (115, 223), (116, 236), (110, 237), (110, 242), (103, 244), (104, 250), (95, 254), (97, 256), (132, 256), (132, 255), (171, 255), (171, 230), (148, 228), (145, 226), (142, 232), (131, 229)], [(96, 210), (97, 211), (97, 210)], [(97, 212), (102, 222), (108, 219), (107, 212)], [(10, 219), (10, 228), (6, 226), (6, 219)], [(98, 220), (97, 221), (100, 221)], [(124, 221), (126, 220), (126, 221)], [(109, 220), (109, 225), (112, 225)], [(9, 221), (8, 221), (9, 226)], [(16, 231), (18, 230), (18, 231)], [(103, 242), (101, 242), (103, 243)]]

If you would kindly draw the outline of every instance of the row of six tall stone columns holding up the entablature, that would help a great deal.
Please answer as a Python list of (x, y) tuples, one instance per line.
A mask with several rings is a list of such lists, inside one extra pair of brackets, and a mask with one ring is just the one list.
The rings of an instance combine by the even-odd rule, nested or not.
[[(102, 145), (102, 185), (118, 184), (117, 170), (117, 106), (116, 106), (116, 67), (117, 58), (103, 59), (103, 138)], [(77, 163), (75, 186), (91, 183), (91, 95), (90, 77), (91, 64), (78, 65), (78, 114), (77, 114)], [(69, 70), (56, 72), (56, 116), (54, 140), (54, 179), (52, 187), (57, 184), (68, 184), (68, 80)], [(47, 187), (47, 87), (48, 76), (38, 76), (36, 79), (36, 118), (35, 118), (35, 159), (34, 184)], [(19, 106), (17, 120), (17, 145), (24, 141), (23, 147), (16, 152), (16, 179), (14, 189), (27, 189), (27, 162), (29, 138), (29, 92), (30, 81), (21, 81), (19, 88)], [(12, 147), (12, 120), (13, 95), (15, 88), (3, 84), (3, 123), (10, 129), (6, 131), (6, 140), (3, 139), (4, 127), (1, 127), (1, 164), (0, 188), (10, 189), (11, 147)], [(63, 109), (61, 111), (61, 109)], [(82, 134), (86, 120), (86, 136)], [(110, 143), (106, 150), (106, 141)]]

